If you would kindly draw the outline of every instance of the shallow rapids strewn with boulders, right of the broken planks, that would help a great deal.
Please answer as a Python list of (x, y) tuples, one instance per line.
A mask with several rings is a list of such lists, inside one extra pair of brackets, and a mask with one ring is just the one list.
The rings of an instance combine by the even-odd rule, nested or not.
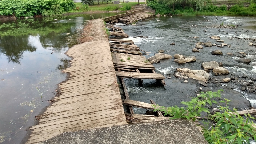
[(162, 16), (122, 26), (129, 36), (148, 36), (128, 39), (151, 52), (146, 58), (167, 77), (164, 88), (154, 80), (139, 85), (126, 79), (131, 99), (181, 106), (202, 91), (223, 89), (231, 108), (256, 106), (255, 22), (255, 17)]

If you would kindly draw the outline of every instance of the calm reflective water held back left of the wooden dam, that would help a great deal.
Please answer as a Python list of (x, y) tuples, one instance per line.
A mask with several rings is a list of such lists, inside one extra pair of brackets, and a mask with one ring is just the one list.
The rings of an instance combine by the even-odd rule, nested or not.
[[(112, 15), (116, 13), (93, 17)], [(25, 129), (49, 105), (56, 84), (65, 80), (61, 70), (69, 58), (64, 53), (77, 43), (77, 33), (89, 19), (86, 14), (0, 23), (0, 143), (24, 143)]]

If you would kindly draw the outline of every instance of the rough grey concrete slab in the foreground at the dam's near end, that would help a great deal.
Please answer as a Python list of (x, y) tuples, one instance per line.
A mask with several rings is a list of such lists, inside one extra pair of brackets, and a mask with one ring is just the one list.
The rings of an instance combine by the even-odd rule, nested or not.
[(65, 132), (41, 144), (208, 144), (187, 119)]

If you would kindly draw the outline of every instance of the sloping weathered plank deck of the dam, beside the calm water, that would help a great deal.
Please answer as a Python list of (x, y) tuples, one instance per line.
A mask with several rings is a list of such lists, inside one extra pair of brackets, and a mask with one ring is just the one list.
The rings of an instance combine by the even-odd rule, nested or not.
[(89, 24), (88, 42), (66, 52), (72, 60), (63, 70), (69, 77), (59, 84), (61, 95), (30, 128), (27, 144), (68, 131), (127, 124), (103, 20)]

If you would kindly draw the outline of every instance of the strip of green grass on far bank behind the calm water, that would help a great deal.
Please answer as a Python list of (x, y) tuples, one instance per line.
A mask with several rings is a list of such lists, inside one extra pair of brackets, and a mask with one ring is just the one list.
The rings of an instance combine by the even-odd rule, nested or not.
[[(75, 3), (76, 9), (71, 10), (69, 13), (87, 12), (87, 11), (114, 11), (114, 10), (119, 10), (121, 6), (130, 5), (131, 7), (133, 7), (136, 4), (138, 4), (138, 2), (123, 3), (123, 1), (120, 1), (120, 4), (112, 4), (110, 2), (109, 4), (100, 3), (99, 5), (95, 3), (94, 5), (89, 5), (88, 9), (84, 9), (82, 3)], [(140, 4), (144, 4), (144, 3), (140, 2)]]

